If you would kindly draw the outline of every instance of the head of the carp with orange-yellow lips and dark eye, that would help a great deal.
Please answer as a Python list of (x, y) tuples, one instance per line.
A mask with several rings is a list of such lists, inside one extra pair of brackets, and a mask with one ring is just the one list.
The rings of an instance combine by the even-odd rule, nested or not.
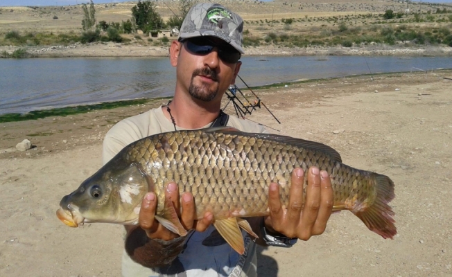
[(147, 175), (137, 164), (107, 163), (61, 199), (57, 216), (71, 227), (90, 222), (136, 224), (149, 188)]

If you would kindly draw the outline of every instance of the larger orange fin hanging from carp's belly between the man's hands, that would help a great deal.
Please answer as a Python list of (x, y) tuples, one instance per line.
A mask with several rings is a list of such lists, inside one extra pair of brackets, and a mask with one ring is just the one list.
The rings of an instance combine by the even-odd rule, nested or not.
[(214, 226), (218, 233), (220, 233), (227, 243), (229, 243), (232, 249), (241, 255), (245, 253), (242, 232), (240, 231), (240, 228), (238, 228), (236, 217), (231, 217), (227, 220), (216, 220)]

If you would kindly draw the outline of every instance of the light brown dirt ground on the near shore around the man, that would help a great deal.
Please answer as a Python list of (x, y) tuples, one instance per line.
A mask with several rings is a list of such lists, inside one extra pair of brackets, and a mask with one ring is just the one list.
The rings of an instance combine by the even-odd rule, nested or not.
[[(342, 211), (323, 235), (292, 249), (260, 248), (260, 276), (452, 276), (452, 80), (445, 78), (452, 71), (256, 91), (281, 125), (264, 109), (250, 119), (326, 143), (344, 163), (391, 177), (398, 229), (383, 240)], [(55, 211), (101, 166), (105, 132), (161, 104), (0, 124), (0, 276), (120, 276), (122, 226), (71, 229)], [(15, 150), (23, 139), (34, 148)]]

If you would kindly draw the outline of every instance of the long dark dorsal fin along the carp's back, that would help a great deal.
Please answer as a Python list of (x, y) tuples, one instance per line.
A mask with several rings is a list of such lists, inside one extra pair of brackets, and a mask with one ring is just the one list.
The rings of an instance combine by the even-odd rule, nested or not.
[(315, 141), (306, 141), (305, 139), (295, 139), (291, 136), (281, 136), (279, 134), (266, 134), (266, 133), (246, 133), (241, 132), (238, 129), (234, 129), (232, 127), (216, 127), (206, 129), (206, 132), (217, 132), (223, 134), (230, 135), (238, 135), (238, 136), (250, 136), (256, 139), (263, 139), (269, 141), (277, 141), (279, 143), (286, 143), (290, 145), (297, 146), (299, 148), (309, 149), (309, 150), (318, 150), (327, 154), (334, 161), (338, 161), (342, 163), (342, 158), (340, 154), (329, 147), (328, 145), (324, 145), (323, 143), (317, 143)]

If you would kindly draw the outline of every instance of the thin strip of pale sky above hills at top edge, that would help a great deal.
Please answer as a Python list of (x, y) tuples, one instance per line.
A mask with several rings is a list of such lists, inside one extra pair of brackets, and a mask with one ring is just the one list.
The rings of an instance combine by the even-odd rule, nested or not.
[[(118, 3), (125, 0), (93, 0), (94, 3)], [(419, 0), (412, 1), (418, 2)], [(0, 0), (0, 6), (67, 6), (88, 3), (89, 0)], [(452, 3), (452, 0), (422, 0), (422, 2)]]

